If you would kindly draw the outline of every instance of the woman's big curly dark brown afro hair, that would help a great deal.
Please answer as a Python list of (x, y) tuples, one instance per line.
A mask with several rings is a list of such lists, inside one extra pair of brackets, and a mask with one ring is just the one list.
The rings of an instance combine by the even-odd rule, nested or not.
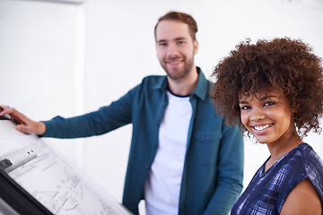
[(241, 93), (255, 96), (261, 89), (282, 90), (295, 111), (296, 131), (302, 138), (313, 129), (320, 133), (319, 118), (323, 113), (322, 59), (301, 39), (258, 40), (240, 42), (230, 55), (214, 68), (212, 98), (217, 113), (229, 125), (239, 125)]

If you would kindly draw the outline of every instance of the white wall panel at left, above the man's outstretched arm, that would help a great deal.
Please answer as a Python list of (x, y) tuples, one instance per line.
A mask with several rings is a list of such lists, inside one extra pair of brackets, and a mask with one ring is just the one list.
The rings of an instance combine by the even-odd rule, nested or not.
[[(75, 114), (80, 12), (75, 4), (0, 0), (1, 104), (35, 120)], [(73, 142), (62, 148), (71, 158), (75, 149)]]

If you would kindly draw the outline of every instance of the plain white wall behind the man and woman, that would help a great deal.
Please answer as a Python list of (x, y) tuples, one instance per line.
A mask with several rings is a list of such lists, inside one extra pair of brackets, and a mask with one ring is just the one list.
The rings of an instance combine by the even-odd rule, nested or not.
[[(303, 39), (323, 56), (319, 0), (0, 0), (0, 103), (35, 120), (109, 105), (145, 75), (164, 73), (153, 27), (170, 10), (196, 18), (205, 75), (246, 38)], [(81, 142), (47, 140), (120, 202), (130, 138), (127, 125)], [(323, 155), (319, 135), (306, 140)], [(266, 146), (246, 142), (245, 185), (267, 156)]]

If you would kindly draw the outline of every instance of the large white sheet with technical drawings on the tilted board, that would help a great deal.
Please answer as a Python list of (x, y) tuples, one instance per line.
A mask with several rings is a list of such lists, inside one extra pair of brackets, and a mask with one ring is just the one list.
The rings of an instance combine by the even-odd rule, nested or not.
[(0, 168), (53, 214), (131, 214), (36, 135), (1, 140)]

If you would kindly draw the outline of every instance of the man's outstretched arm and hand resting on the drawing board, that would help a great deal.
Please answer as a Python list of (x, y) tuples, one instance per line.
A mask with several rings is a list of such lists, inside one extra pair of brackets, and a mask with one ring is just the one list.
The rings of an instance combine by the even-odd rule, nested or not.
[(3, 107), (0, 116), (5, 114), (19, 117), (25, 125), (17, 125), (17, 130), (22, 133), (38, 134), (55, 138), (78, 138), (108, 133), (122, 125), (131, 123), (132, 100), (135, 90), (129, 90), (126, 95), (112, 102), (109, 106), (100, 107), (99, 110), (83, 116), (64, 118), (56, 116), (51, 120), (35, 122), (24, 116), (13, 107)]

